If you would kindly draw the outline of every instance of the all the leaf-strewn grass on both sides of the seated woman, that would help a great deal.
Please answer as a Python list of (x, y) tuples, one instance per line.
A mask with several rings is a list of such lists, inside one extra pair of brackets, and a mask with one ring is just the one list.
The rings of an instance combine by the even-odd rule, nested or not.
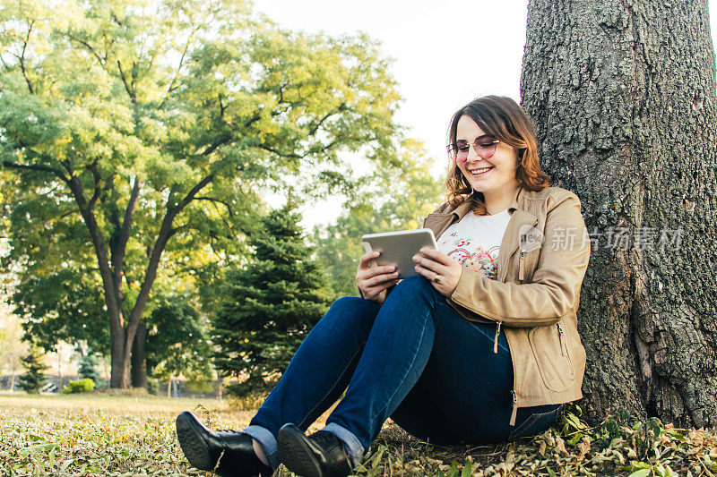
[[(216, 400), (103, 394), (0, 394), (0, 476), (208, 475), (177, 444), (174, 418), (194, 410), (212, 429), (241, 429), (253, 411)], [(327, 411), (310, 431), (324, 426)], [(705, 475), (717, 474), (714, 430), (677, 430), (622, 414), (588, 427), (569, 407), (555, 428), (498, 446), (438, 447), (390, 420), (358, 475)], [(281, 466), (275, 477), (291, 475)]]

